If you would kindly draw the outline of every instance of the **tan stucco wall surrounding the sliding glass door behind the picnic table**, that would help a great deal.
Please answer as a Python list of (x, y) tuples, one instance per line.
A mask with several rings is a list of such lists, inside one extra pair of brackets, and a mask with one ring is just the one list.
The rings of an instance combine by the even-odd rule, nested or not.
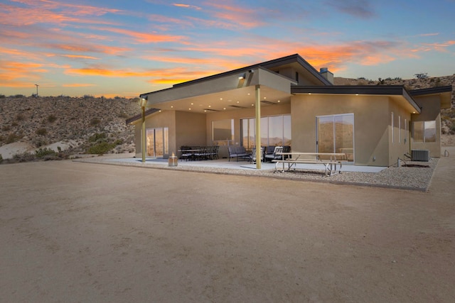
[(316, 116), (354, 114), (356, 165), (389, 165), (389, 100), (385, 96), (301, 94), (292, 97), (292, 150), (316, 151)]

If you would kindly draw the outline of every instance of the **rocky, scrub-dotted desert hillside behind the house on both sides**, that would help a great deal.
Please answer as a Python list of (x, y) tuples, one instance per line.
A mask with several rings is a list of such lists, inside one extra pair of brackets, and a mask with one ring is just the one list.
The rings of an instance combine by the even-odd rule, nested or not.
[[(455, 75), (422, 79), (335, 78), (336, 85), (404, 85), (422, 89), (452, 85)], [(455, 145), (455, 90), (452, 108), (442, 111), (442, 145)], [(139, 99), (85, 97), (6, 97), (0, 94), (0, 154), (55, 150), (65, 157), (82, 153), (134, 152), (134, 127), (125, 120), (140, 113)], [(62, 154), (60, 153), (60, 154)], [(43, 153), (45, 155), (46, 153)], [(49, 155), (55, 156), (55, 155)], [(61, 155), (60, 155), (61, 156)]]

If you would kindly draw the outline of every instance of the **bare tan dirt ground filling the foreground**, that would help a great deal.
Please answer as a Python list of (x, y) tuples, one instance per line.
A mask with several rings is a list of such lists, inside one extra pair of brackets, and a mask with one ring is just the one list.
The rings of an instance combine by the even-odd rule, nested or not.
[(455, 302), (449, 151), (429, 192), (0, 165), (0, 302)]

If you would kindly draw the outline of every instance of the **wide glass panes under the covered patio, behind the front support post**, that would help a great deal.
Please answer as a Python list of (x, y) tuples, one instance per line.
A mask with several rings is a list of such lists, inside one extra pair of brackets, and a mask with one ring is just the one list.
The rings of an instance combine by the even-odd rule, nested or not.
[[(251, 149), (255, 141), (256, 119), (242, 119), (242, 146)], [(267, 116), (261, 118), (261, 145), (291, 145), (291, 116)]]

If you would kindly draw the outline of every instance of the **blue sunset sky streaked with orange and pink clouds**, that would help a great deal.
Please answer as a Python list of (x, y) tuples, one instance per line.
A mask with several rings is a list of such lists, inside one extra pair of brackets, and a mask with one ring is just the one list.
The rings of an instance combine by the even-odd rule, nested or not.
[(455, 0), (0, 0), (6, 96), (137, 97), (294, 53), (336, 77), (454, 75)]

